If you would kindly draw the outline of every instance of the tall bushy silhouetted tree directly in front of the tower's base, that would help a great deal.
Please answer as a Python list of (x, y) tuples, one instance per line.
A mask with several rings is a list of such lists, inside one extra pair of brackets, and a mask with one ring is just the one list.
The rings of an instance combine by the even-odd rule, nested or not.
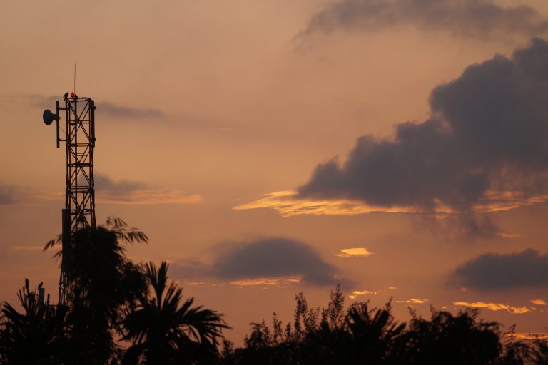
[[(109, 217), (106, 227), (73, 232), (68, 245), (56, 254), (63, 259), (67, 279), (71, 362), (105, 364), (118, 356), (121, 350), (114, 332), (120, 331), (123, 314), (136, 307), (147, 291), (141, 267), (126, 258), (121, 242), (147, 240), (143, 232), (128, 230), (126, 222)], [(55, 243), (50, 241), (46, 248)]]

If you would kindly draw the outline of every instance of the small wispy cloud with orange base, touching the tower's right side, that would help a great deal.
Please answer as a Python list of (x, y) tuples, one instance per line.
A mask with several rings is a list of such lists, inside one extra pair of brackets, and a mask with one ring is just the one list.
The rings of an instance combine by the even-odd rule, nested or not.
[(186, 204), (201, 202), (201, 195), (186, 195), (179, 190), (154, 189), (136, 180), (113, 180), (95, 174), (97, 201), (114, 204)]

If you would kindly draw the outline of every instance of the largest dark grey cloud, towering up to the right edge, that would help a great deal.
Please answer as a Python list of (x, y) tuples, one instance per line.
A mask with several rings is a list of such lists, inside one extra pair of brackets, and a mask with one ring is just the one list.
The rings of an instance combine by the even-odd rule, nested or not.
[(300, 197), (470, 212), (488, 191), (547, 192), (548, 43), (469, 66), (430, 95), (431, 118), (394, 140), (358, 138), (345, 163), (318, 165)]

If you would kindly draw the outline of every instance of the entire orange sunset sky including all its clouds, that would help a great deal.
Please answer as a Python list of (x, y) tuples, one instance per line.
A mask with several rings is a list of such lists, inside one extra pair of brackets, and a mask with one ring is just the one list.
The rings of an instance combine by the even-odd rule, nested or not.
[[(542, 0), (2, 1), (0, 300), (56, 298), (65, 155), (96, 101), (96, 215), (198, 304), (250, 322), (392, 298), (548, 327)], [(506, 327), (506, 328), (507, 328)]]

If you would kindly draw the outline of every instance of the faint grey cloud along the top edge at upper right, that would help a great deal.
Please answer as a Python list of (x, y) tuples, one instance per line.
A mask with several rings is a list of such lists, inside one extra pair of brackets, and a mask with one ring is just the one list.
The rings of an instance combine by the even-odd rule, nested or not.
[(531, 7), (502, 7), (489, 0), (342, 0), (315, 14), (300, 36), (408, 24), (475, 38), (540, 36), (548, 30), (548, 21)]

